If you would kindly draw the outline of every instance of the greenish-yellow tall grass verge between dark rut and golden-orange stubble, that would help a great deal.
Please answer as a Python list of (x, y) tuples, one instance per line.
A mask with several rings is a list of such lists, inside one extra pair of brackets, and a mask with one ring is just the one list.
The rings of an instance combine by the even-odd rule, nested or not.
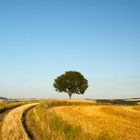
[[(60, 105), (60, 101), (57, 101), (56, 104)], [(34, 108), (32, 111), (29, 111), (27, 113), (26, 119), (26, 123), (29, 131), (31, 132), (32, 139), (92, 139), (90, 133), (82, 131), (79, 125), (69, 123), (68, 121), (64, 121), (61, 117), (58, 117), (52, 108), (48, 108), (48, 103), (43, 103)]]

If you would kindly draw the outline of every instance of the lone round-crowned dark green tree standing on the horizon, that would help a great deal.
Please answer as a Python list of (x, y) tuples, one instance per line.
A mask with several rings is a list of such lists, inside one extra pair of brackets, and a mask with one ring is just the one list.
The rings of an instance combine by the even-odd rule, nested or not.
[(58, 92), (66, 92), (71, 99), (72, 94), (84, 94), (88, 88), (88, 81), (77, 71), (66, 71), (54, 80), (54, 88)]

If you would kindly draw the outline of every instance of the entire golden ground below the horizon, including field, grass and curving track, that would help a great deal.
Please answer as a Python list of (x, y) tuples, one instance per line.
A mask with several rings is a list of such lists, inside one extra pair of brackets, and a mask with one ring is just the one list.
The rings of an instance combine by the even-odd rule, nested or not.
[(139, 101), (0, 102), (0, 140), (139, 140)]

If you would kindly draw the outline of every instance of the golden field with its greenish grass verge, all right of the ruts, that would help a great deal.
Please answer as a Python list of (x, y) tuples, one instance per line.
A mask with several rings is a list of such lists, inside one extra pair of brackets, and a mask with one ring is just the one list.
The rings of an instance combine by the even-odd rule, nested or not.
[(139, 106), (47, 100), (29, 111), (26, 119), (35, 140), (140, 139)]

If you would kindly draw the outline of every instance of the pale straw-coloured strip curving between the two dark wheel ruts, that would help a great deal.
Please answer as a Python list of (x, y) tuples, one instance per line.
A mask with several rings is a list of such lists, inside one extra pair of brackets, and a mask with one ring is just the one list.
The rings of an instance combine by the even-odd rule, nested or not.
[(10, 111), (3, 121), (2, 140), (28, 140), (27, 133), (22, 126), (22, 114), (28, 108), (38, 103), (26, 104)]

